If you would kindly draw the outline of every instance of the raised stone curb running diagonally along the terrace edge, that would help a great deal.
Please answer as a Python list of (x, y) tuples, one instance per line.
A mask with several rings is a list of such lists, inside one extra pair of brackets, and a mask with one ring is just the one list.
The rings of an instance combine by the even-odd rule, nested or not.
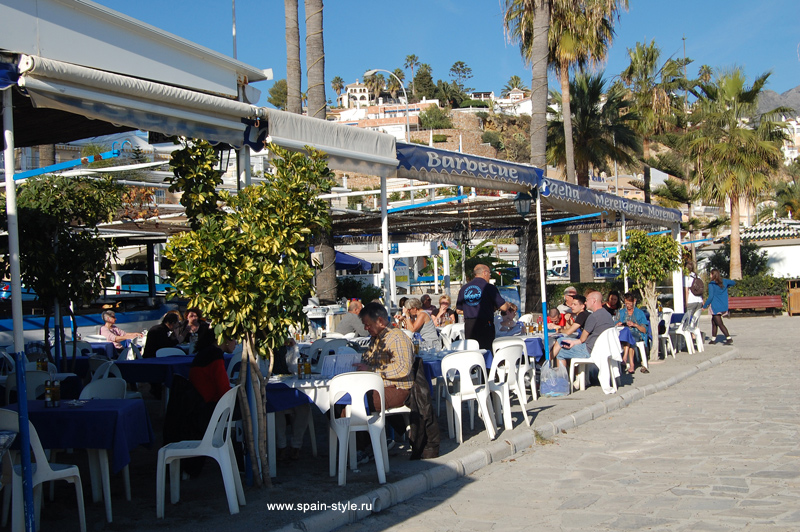
[[(373, 491), (351, 499), (348, 501), (348, 507), (351, 509), (345, 511), (328, 510), (320, 512), (279, 528), (276, 532), (295, 532), (297, 530), (302, 530), (303, 532), (331, 532), (342, 526), (355, 523), (373, 513), (381, 512), (386, 508), (400, 504), (412, 497), (422, 495), (451, 480), (474, 473), (493, 462), (500, 462), (510, 458), (523, 449), (527, 449), (533, 445), (537, 435), (541, 438), (552, 439), (562, 431), (573, 429), (578, 425), (582, 425), (610, 412), (624, 408), (645, 397), (666, 390), (698, 372), (718, 366), (737, 356), (739, 356), (739, 350), (733, 348), (726, 353), (692, 366), (678, 375), (673, 375), (664, 381), (648, 384), (639, 388), (631, 388), (622, 394), (615, 394), (603, 401), (582, 408), (577, 412), (556, 419), (555, 421), (544, 423), (541, 427), (529, 428), (529, 430), (511, 431), (509, 434), (504, 434), (502, 439), (493, 441), (488, 446), (474, 451), (461, 459), (450, 460), (445, 464), (398, 480), (397, 482), (384, 484)], [(369, 504), (372, 505), (372, 510), (362, 509), (366, 508), (367, 506), (365, 505)]]

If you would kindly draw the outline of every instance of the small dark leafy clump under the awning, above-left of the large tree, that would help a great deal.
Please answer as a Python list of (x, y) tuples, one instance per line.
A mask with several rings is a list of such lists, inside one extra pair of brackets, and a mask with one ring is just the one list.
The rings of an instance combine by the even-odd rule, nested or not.
[(200, 227), (204, 216), (219, 212), (217, 203), (222, 184), (222, 172), (215, 168), (219, 158), (214, 148), (204, 140), (183, 141), (183, 148), (173, 152), (169, 165), (172, 177), (167, 178), (170, 192), (183, 192), (181, 205), (186, 209), (192, 229)]

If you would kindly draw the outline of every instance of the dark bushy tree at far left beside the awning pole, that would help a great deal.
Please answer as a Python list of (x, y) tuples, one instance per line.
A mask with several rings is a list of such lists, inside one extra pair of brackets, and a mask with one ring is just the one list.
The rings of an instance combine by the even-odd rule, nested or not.
[[(111, 179), (54, 175), (32, 177), (19, 185), (21, 278), (25, 286), (36, 291), (46, 309), (44, 341), (48, 351), (47, 324), (55, 302), (67, 309), (69, 302), (90, 303), (105, 287), (116, 245), (99, 238), (97, 225), (112, 220), (120, 207), (122, 190)], [(5, 213), (3, 195), (4, 224)], [(3, 249), (6, 277), (10, 268), (7, 245)]]

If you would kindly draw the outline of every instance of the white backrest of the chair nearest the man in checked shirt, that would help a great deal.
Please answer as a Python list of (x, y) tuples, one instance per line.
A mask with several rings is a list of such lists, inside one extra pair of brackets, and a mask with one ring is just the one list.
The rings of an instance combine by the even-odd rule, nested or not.
[[(332, 378), (329, 383), (330, 415), (333, 422), (336, 418), (334, 407), (336, 401), (345, 394), (350, 395), (350, 405), (345, 408), (345, 416), (349, 418), (350, 426), (380, 426), (384, 420), (386, 398), (383, 392), (383, 379), (371, 371), (353, 371), (342, 373)], [(380, 411), (367, 412), (365, 396), (370, 390), (375, 390), (380, 395)]]

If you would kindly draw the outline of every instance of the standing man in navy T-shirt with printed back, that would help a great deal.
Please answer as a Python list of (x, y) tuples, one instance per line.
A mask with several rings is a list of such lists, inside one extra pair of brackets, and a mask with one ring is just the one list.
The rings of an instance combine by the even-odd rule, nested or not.
[(464, 335), (478, 340), (481, 349), (492, 349), (494, 341), (494, 312), (508, 310), (500, 291), (489, 282), (492, 270), (485, 264), (473, 269), (475, 278), (461, 287), (456, 308), (464, 313)]

